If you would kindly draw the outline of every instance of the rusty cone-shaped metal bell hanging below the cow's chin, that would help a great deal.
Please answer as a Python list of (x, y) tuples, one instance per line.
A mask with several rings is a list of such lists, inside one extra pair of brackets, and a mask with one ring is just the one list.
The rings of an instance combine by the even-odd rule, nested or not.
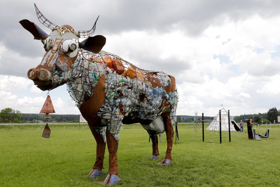
[[(44, 118), (46, 118), (46, 120), (48, 121), (48, 119), (50, 119), (50, 115), (49, 115), (50, 113), (55, 113), (55, 109), (53, 108), (53, 103), (52, 100), (50, 99), (50, 95), (48, 95), (40, 111), (40, 114), (46, 114)], [(42, 136), (44, 138), (50, 138), (50, 128), (48, 126), (48, 122), (44, 128)]]

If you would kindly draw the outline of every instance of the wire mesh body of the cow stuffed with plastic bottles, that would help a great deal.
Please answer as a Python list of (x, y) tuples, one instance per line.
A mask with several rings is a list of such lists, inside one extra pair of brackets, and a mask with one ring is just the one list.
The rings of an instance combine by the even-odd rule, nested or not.
[[(176, 90), (165, 91), (164, 87), (171, 84), (166, 73), (137, 68), (105, 51), (93, 54), (86, 50), (79, 51), (70, 70), (53, 68), (53, 82), (69, 80), (67, 89), (78, 107), (93, 96), (94, 87), (104, 75), (105, 102), (98, 116), (110, 124), (107, 128), (116, 136), (124, 117), (153, 120), (162, 110), (164, 100), (171, 103), (170, 118), (172, 123), (175, 122), (178, 95)], [(105, 131), (105, 128), (97, 131)]]

